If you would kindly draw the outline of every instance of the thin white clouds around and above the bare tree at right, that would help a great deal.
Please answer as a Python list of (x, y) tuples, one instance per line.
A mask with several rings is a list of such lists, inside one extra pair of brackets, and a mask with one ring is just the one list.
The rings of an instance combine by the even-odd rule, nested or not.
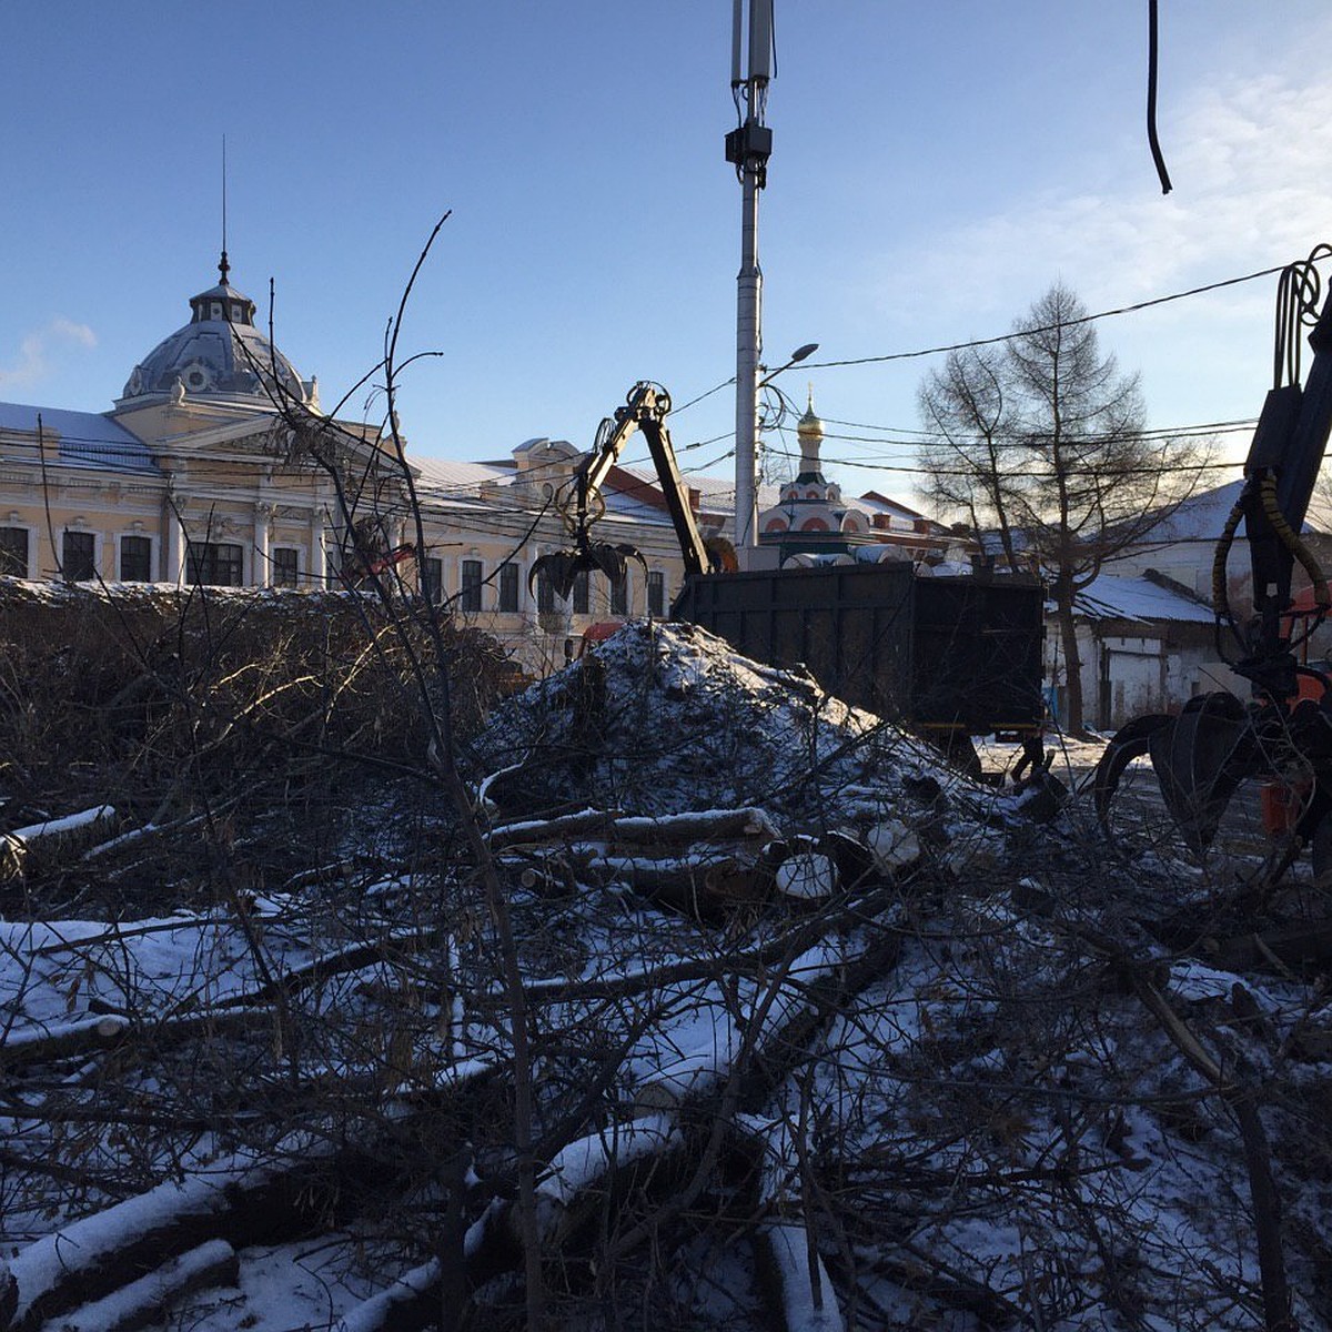
[[(1019, 182), (998, 206), (979, 200), (971, 218), (878, 256), (860, 301), (876, 306), (879, 346), (1003, 333), (1056, 278), (1103, 310), (1332, 241), (1332, 85), (1265, 73), (1179, 93), (1173, 105), (1160, 127), (1171, 194), (1156, 184), (1146, 132), (1135, 133), (1100, 160), (1062, 164), (1066, 184)], [(1156, 425), (1256, 416), (1271, 385), (1275, 296), (1269, 277), (1116, 318), (1102, 325), (1103, 345), (1142, 370)], [(874, 368), (880, 405), (866, 420), (911, 420), (919, 370)]]

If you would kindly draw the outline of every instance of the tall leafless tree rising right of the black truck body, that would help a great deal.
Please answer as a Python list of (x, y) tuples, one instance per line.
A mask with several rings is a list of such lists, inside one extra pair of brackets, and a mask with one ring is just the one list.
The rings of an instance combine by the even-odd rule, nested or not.
[(1193, 490), (1207, 450), (1144, 432), (1136, 374), (1103, 353), (1082, 301), (1056, 282), (1000, 348), (952, 352), (919, 390), (932, 437), (926, 493), (1003, 562), (1051, 585), (1067, 670), (1067, 727), (1084, 729), (1076, 594)]

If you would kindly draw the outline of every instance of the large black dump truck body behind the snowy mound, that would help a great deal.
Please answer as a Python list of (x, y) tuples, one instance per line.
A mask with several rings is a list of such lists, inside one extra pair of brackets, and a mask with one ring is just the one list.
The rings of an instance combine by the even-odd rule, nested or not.
[(674, 617), (880, 717), (988, 735), (1040, 726), (1042, 603), (1035, 578), (823, 565), (690, 578)]

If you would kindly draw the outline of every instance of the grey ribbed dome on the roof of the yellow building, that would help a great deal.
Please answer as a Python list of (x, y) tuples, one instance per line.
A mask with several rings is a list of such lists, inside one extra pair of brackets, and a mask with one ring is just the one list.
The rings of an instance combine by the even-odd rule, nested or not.
[(274, 377), (282, 393), (310, 402), (312, 385), (254, 328), (254, 302), (228, 284), (225, 252), (218, 270), (222, 280), (217, 286), (190, 297), (189, 322), (131, 372), (117, 406), (178, 393), (177, 385), (190, 397), (272, 406), (266, 385)]

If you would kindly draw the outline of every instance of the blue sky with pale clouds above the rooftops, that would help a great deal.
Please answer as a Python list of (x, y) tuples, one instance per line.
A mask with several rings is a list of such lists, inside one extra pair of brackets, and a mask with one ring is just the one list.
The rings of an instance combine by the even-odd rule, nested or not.
[[(1163, 4), (1168, 197), (1144, 132), (1144, 0), (775, 7), (770, 365), (806, 341), (818, 362), (1002, 333), (1056, 278), (1099, 310), (1332, 240), (1321, 0), (1279, 20), (1252, 0)], [(186, 320), (216, 278), (225, 135), (232, 280), (266, 310), (273, 278), (277, 341), (325, 406), (377, 360), (446, 209), (401, 344), (441, 353), (402, 384), (414, 449), (587, 446), (638, 378), (683, 404), (734, 372), (729, 33), (726, 0), (0, 7), (0, 397), (105, 410)], [(1273, 292), (1100, 325), (1154, 425), (1256, 416)], [(783, 384), (904, 437), (928, 364)], [(710, 461), (733, 425), (722, 392), (673, 433), (722, 437), (687, 454)], [(910, 498), (910, 472), (875, 470), (910, 450), (830, 430), (848, 489)]]

